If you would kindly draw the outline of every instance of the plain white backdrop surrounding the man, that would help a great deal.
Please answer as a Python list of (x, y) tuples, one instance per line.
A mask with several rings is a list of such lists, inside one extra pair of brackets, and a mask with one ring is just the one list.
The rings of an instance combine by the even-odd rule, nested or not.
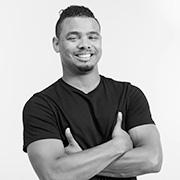
[(58, 11), (89, 7), (102, 26), (99, 71), (145, 93), (161, 134), (164, 162), (140, 180), (180, 179), (180, 1), (0, 0), (0, 179), (37, 180), (22, 151), (25, 102), (62, 76), (52, 48)]

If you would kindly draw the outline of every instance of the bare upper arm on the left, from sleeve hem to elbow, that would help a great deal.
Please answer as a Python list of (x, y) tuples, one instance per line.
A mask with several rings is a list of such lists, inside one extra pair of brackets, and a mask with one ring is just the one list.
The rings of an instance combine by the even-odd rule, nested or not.
[(55, 161), (65, 150), (59, 139), (43, 139), (29, 144), (27, 153), (30, 162), (40, 179), (48, 179), (55, 167)]

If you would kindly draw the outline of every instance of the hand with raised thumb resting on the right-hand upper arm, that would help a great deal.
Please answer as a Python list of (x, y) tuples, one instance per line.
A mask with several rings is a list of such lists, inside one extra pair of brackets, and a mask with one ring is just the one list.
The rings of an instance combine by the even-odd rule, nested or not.
[(129, 134), (121, 128), (121, 125), (122, 113), (118, 112), (117, 123), (112, 132), (112, 139), (116, 141), (118, 149), (125, 153), (133, 148), (133, 143)]

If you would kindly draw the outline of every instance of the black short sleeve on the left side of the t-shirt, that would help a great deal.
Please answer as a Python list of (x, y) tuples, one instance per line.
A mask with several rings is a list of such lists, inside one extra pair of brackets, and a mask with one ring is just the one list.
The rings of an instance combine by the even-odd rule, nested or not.
[(57, 121), (53, 111), (45, 98), (32, 96), (23, 108), (23, 151), (37, 140), (56, 138), (61, 139)]

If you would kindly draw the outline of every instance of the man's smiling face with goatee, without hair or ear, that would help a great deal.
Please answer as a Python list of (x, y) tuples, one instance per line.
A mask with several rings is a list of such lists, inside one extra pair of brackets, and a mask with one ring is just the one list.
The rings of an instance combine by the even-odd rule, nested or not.
[(93, 70), (101, 57), (99, 24), (88, 17), (66, 18), (58, 45), (64, 70), (79, 73)]

